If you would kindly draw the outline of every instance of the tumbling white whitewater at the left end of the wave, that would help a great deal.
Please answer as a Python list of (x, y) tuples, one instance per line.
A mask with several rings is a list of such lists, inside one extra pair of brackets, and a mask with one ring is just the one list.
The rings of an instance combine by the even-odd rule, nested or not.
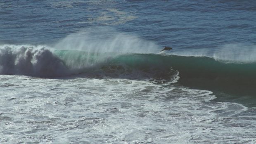
[(69, 69), (43, 46), (0, 45), (0, 74), (64, 76)]

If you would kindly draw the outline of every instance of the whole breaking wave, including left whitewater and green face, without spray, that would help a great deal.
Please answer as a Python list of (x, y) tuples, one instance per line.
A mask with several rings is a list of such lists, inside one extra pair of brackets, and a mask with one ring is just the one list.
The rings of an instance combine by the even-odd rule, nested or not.
[(0, 74), (6, 75), (147, 79), (254, 95), (255, 73), (255, 62), (225, 62), (213, 57), (51, 50), (29, 45), (0, 48)]

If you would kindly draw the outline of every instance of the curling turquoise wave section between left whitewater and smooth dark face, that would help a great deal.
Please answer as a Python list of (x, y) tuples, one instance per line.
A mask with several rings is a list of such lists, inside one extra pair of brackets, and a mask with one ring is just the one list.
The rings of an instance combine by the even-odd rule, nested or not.
[(151, 79), (156, 83), (178, 80), (178, 71), (162, 63), (165, 59), (157, 54), (91, 53), (77, 50), (54, 50), (53, 53), (64, 61), (73, 74)]

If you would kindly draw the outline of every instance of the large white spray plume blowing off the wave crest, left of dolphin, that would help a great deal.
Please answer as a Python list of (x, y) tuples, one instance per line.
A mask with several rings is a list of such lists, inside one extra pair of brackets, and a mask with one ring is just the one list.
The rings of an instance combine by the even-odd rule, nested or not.
[(86, 52), (156, 53), (158, 45), (137, 35), (122, 33), (109, 27), (87, 28), (60, 40), (55, 49)]

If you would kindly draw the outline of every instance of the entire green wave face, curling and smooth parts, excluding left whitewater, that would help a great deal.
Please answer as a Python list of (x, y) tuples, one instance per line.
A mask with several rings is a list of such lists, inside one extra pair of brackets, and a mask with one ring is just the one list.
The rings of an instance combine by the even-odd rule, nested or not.
[[(192, 88), (254, 95), (256, 63), (218, 61), (211, 57), (162, 54), (87, 53), (55, 50), (67, 67), (92, 76), (177, 82)], [(78, 71), (77, 71), (78, 70)]]

